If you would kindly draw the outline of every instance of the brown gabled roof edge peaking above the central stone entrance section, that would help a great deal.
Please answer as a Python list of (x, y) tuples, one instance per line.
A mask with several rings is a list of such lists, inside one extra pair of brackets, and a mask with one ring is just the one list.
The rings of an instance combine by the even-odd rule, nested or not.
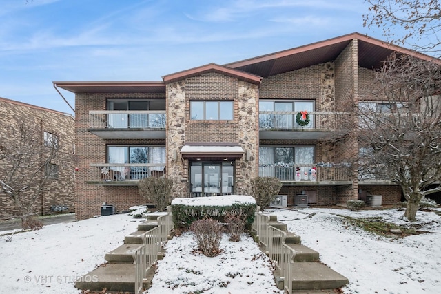
[(249, 72), (243, 72), (241, 70), (235, 70), (230, 67), (217, 65), (215, 63), (209, 63), (200, 67), (194, 67), (192, 69), (184, 70), (182, 72), (176, 72), (174, 74), (167, 74), (167, 76), (163, 76), (163, 81), (164, 83), (172, 83), (174, 81), (180, 81), (185, 78), (198, 76), (207, 72), (217, 72), (218, 74), (225, 74), (227, 76), (238, 78), (241, 81), (247, 81), (248, 83), (253, 83), (257, 85), (259, 85), (260, 81), (262, 81), (261, 76), (250, 74)]

